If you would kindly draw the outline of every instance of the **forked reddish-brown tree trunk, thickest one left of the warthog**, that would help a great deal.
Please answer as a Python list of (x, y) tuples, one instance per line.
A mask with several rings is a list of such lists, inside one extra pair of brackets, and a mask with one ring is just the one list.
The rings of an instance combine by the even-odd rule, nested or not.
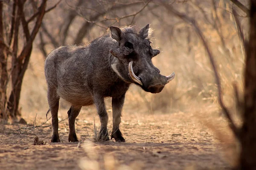
[[(20, 101), (20, 92), (21, 92), (21, 85), (23, 81), (23, 77), (26, 71), (26, 68), (29, 63), (30, 55), (32, 52), (32, 43), (35, 39), (36, 34), (38, 33), (38, 30), (41, 26), (42, 19), (45, 14), (45, 7), (46, 7), (47, 0), (43, 0), (41, 3), (41, 6), (39, 8), (39, 14), (37, 21), (35, 23), (35, 26), (32, 30), (32, 33), (30, 34), (29, 28), (28, 28), (28, 22), (26, 22), (25, 15), (23, 13), (23, 4), (21, 1), (18, 2), (19, 7), (19, 15), (17, 16), (17, 22), (15, 26), (15, 32), (14, 32), (14, 45), (13, 45), (13, 59), (12, 59), (12, 91), (9, 96), (9, 100), (7, 103), (7, 109), (10, 113), (10, 116), (12, 118), (15, 118), (20, 115), (18, 112), (19, 107), (19, 101)], [(24, 2), (23, 2), (24, 3)], [(26, 45), (22, 49), (20, 55), (17, 55), (17, 47), (18, 47), (18, 23), (19, 18), (21, 20), (22, 26), (23, 26), (23, 32), (26, 37)]]

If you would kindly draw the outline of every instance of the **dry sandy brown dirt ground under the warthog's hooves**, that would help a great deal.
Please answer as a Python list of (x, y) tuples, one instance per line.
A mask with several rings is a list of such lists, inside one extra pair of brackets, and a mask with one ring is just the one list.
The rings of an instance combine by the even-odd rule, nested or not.
[[(23, 117), (32, 124), (32, 116)], [(226, 145), (216, 138), (224, 134), (222, 140), (229, 143), (232, 141), (229, 132), (212, 130), (207, 120), (202, 121), (195, 114), (125, 113), (120, 127), (125, 143), (115, 143), (114, 139), (93, 142), (94, 116), (99, 126), (96, 114), (83, 111), (78, 116), (76, 132), (80, 143), (68, 142), (67, 120), (59, 124), (60, 143), (50, 142), (51, 127), (28, 129), (20, 134), (25, 131), (17, 129), (24, 125), (0, 125), (0, 170), (219, 170), (231, 167), (233, 153), (225, 152)], [(109, 130), (111, 116), (110, 113)], [(60, 117), (66, 118), (66, 111), (61, 111)], [(45, 119), (45, 114), (38, 116), (37, 125)], [(216, 119), (215, 127), (225, 124), (218, 116), (209, 119)], [(46, 125), (50, 125), (50, 121)], [(47, 138), (46, 144), (33, 145), (35, 136), (40, 140)]]

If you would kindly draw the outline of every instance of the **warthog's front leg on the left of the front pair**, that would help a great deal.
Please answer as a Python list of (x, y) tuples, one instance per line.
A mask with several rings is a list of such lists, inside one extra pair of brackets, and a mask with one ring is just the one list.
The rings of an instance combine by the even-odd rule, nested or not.
[(108, 113), (106, 111), (104, 97), (99, 94), (94, 94), (94, 104), (96, 105), (99, 114), (101, 128), (99, 131), (99, 140), (109, 141), (108, 137)]

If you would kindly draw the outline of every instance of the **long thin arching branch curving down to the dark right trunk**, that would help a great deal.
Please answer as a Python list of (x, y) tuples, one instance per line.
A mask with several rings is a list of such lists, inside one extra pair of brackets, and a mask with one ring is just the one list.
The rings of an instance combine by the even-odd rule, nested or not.
[(215, 61), (213, 59), (213, 56), (212, 56), (212, 53), (209, 49), (209, 45), (207, 43), (207, 41), (205, 40), (205, 37), (201, 31), (201, 29), (198, 27), (198, 24), (195, 20), (193, 20), (192, 18), (186, 16), (185, 14), (182, 14), (178, 11), (176, 11), (174, 8), (172, 8), (172, 6), (170, 5), (167, 5), (167, 4), (163, 4), (163, 6), (166, 7), (166, 9), (172, 13), (172, 14), (175, 14), (177, 17), (179, 17), (180, 19), (184, 20), (186, 23), (189, 23), (191, 24), (194, 29), (195, 29), (195, 32), (198, 34), (198, 36), (200, 37), (201, 41), (203, 42), (203, 45), (204, 45), (204, 48), (206, 49), (207, 51), (207, 54), (208, 54), (208, 57), (209, 57), (209, 60), (210, 60), (210, 63), (212, 65), (212, 69), (214, 71), (214, 74), (215, 74), (215, 80), (216, 80), (216, 83), (217, 83), (217, 87), (218, 87), (218, 101), (219, 101), (219, 104), (221, 106), (221, 109), (223, 110), (223, 112), (225, 113), (225, 116), (227, 117), (228, 121), (229, 121), (229, 126), (231, 128), (231, 130), (233, 131), (233, 133), (235, 134), (235, 136), (239, 139), (240, 137), (240, 134), (239, 134), (239, 130), (238, 130), (238, 127), (236, 127), (235, 123), (233, 122), (233, 119), (231, 118), (231, 115), (230, 115), (230, 112), (229, 110), (227, 109), (227, 107), (225, 106), (224, 102), (223, 102), (223, 99), (222, 99), (222, 90), (221, 90), (221, 81), (220, 81), (220, 78), (219, 78), (219, 75), (218, 75), (218, 71), (217, 71), (217, 68), (216, 68), (216, 64), (215, 64)]

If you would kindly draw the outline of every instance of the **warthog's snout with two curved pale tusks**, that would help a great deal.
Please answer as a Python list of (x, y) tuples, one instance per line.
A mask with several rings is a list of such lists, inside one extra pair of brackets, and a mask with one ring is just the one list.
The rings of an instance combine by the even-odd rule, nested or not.
[(132, 68), (132, 63), (132, 61), (129, 63), (129, 74), (131, 79), (134, 80), (134, 82), (137, 84), (141, 85), (143, 90), (150, 93), (160, 93), (164, 86), (175, 77), (174, 72), (167, 77), (163, 76), (159, 74), (157, 71), (158, 69), (149, 69), (136, 76)]

